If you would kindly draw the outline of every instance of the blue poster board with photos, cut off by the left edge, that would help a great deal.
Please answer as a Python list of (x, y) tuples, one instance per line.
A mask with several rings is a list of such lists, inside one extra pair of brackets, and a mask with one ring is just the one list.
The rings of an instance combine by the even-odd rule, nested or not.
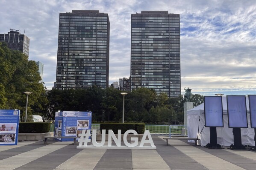
[(0, 145), (17, 145), (20, 110), (0, 110)]

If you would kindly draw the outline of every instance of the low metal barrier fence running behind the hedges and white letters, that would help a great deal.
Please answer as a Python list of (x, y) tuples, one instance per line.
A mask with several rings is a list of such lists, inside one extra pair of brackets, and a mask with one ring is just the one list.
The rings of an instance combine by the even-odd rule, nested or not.
[[(185, 128), (185, 135), (188, 134), (187, 126), (184, 125), (153, 125), (146, 124), (145, 129), (150, 131), (150, 135), (155, 136), (169, 136), (171, 135), (183, 135), (182, 128)], [(100, 130), (100, 124), (92, 124), (91, 130)], [(51, 124), (50, 132), (54, 131), (54, 124)]]

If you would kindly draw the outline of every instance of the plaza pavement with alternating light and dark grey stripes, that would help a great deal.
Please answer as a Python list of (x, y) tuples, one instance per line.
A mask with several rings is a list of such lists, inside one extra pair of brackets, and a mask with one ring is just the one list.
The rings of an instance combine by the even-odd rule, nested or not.
[(156, 150), (76, 149), (72, 142), (0, 146), (0, 170), (255, 170), (256, 152), (207, 149), (152, 136)]

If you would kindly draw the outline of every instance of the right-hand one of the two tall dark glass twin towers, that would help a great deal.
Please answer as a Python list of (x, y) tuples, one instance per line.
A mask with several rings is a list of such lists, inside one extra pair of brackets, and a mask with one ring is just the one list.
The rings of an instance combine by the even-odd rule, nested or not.
[(179, 14), (141, 11), (131, 20), (131, 88), (153, 88), (178, 97), (180, 86)]

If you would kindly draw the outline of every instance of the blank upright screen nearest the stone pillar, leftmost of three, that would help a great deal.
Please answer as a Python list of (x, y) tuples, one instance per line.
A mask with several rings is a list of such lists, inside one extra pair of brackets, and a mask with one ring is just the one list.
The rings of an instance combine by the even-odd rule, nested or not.
[(223, 127), (222, 97), (204, 96), (205, 127)]

